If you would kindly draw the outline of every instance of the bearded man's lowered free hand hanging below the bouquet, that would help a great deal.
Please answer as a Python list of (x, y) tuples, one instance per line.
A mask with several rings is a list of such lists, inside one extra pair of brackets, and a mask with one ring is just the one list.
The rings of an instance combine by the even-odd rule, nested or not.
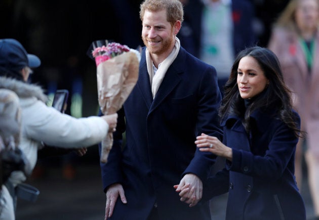
[(105, 220), (112, 216), (117, 197), (121, 197), (123, 203), (127, 203), (124, 190), (121, 184), (113, 184), (106, 191)]

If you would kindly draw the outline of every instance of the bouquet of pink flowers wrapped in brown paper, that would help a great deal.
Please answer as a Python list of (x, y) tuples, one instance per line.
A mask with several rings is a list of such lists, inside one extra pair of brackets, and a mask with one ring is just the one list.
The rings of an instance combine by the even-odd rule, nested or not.
[[(98, 101), (104, 115), (122, 108), (138, 79), (140, 52), (116, 42), (95, 41), (92, 57), (97, 71)], [(113, 133), (102, 141), (101, 162), (107, 162), (113, 145)]]

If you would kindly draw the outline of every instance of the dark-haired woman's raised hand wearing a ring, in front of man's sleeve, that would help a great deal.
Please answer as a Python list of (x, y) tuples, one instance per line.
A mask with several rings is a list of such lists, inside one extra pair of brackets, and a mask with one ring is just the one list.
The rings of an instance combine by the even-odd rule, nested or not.
[(217, 156), (221, 156), (232, 161), (231, 148), (221, 143), (216, 137), (202, 133), (201, 136), (196, 137), (195, 144), (198, 148), (200, 148), (200, 151), (211, 152)]

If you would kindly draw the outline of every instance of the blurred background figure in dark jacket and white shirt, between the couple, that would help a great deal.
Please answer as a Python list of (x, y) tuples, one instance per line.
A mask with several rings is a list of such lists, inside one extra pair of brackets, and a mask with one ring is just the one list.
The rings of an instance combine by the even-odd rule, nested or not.
[(181, 2), (185, 5), (184, 23), (178, 35), (181, 45), (216, 68), (223, 93), (235, 55), (256, 41), (253, 5), (246, 0)]

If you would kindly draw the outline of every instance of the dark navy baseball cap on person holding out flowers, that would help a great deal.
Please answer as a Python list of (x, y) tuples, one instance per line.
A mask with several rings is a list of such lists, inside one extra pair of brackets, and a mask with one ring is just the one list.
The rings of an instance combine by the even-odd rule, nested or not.
[(40, 65), (41, 60), (28, 54), (18, 40), (0, 39), (0, 72), (16, 75), (26, 66), (35, 68)]

